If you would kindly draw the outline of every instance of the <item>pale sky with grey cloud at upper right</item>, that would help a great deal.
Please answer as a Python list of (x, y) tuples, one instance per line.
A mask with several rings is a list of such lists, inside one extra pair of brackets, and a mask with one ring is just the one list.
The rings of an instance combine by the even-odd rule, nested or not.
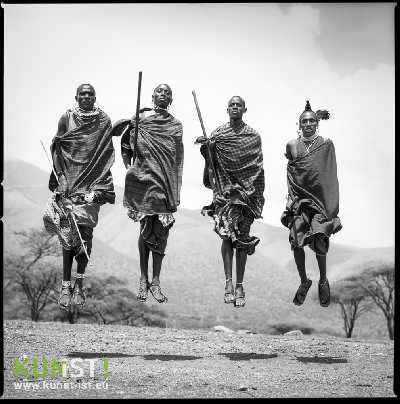
[[(263, 221), (281, 226), (287, 185), (286, 143), (310, 100), (331, 119), (338, 166), (339, 217), (332, 241), (394, 244), (395, 3), (5, 4), (4, 157), (49, 171), (49, 147), (76, 88), (91, 83), (112, 122), (135, 112), (160, 83), (173, 91), (170, 112), (183, 124), (181, 207), (201, 209), (201, 135), (195, 90), (209, 134), (227, 122), (233, 95), (244, 121), (262, 137), (266, 177)], [(120, 139), (114, 182), (124, 185)]]

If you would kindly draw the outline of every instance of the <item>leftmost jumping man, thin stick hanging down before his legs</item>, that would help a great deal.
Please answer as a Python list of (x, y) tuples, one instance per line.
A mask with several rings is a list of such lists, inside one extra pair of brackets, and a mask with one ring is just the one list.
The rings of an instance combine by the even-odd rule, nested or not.
[[(90, 256), (92, 249), (93, 228), (98, 222), (100, 205), (115, 202), (110, 171), (115, 159), (111, 120), (95, 107), (96, 93), (92, 85), (80, 85), (75, 99), (78, 105), (61, 116), (51, 144), (57, 178), (52, 172), (49, 189), (55, 192), (43, 217), (46, 230), (56, 234), (62, 245), (59, 306), (63, 310), (69, 310), (71, 302), (81, 307), (85, 304), (83, 279), (88, 264), (86, 253)], [(72, 287), (74, 257), (77, 274)]]

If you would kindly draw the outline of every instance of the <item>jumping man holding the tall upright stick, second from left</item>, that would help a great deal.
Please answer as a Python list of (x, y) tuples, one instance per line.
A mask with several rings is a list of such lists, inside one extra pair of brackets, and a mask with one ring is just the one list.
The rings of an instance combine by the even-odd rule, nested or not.
[[(160, 272), (169, 230), (180, 203), (183, 169), (182, 124), (168, 108), (172, 90), (160, 84), (153, 92), (153, 108), (143, 108), (135, 138), (135, 117), (121, 119), (113, 132), (121, 134), (121, 154), (127, 169), (124, 206), (128, 217), (140, 222), (138, 240), (140, 281), (137, 299), (147, 300), (148, 291), (159, 303), (166, 303), (161, 291)], [(153, 257), (153, 277), (149, 281), (148, 262)]]

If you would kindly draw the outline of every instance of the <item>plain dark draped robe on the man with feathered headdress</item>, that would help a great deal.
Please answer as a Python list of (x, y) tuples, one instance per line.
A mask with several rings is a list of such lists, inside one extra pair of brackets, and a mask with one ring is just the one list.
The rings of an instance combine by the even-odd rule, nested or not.
[(309, 245), (320, 255), (329, 248), (329, 237), (342, 229), (339, 217), (339, 182), (333, 142), (326, 139), (287, 165), (288, 201), (281, 216), (290, 229), (294, 247)]

